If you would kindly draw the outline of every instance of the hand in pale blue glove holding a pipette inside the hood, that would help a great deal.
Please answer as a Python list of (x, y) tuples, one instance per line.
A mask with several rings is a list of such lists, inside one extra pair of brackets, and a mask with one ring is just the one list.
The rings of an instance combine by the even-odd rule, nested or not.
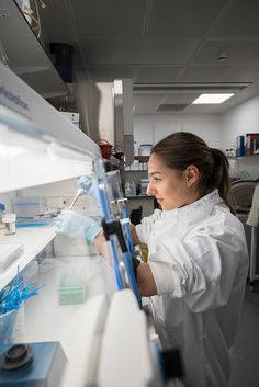
[(85, 236), (89, 243), (93, 244), (95, 237), (102, 230), (100, 225), (86, 215), (64, 209), (56, 219), (57, 234), (77, 238)]

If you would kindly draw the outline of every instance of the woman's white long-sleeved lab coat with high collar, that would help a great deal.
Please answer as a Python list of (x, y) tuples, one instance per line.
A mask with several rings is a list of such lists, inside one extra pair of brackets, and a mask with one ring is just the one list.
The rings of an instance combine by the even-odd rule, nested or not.
[(179, 348), (187, 387), (226, 387), (244, 298), (248, 252), (241, 223), (217, 190), (136, 226), (158, 289), (151, 297), (164, 346)]

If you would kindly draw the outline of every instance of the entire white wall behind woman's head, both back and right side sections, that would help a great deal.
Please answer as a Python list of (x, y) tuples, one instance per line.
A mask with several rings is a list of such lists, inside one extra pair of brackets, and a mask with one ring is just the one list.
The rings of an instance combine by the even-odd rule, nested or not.
[(238, 135), (259, 133), (259, 95), (222, 115), (136, 115), (134, 140), (156, 144), (167, 135), (192, 132), (211, 147), (233, 148)]

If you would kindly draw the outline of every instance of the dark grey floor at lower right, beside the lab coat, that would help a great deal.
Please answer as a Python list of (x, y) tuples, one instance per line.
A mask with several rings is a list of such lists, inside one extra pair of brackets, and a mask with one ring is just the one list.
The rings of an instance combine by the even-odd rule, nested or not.
[(259, 387), (259, 282), (247, 285), (229, 387)]

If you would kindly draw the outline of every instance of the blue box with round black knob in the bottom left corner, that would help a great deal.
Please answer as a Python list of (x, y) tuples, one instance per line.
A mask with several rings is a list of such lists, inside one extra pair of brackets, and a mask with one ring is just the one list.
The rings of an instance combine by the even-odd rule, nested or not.
[(0, 345), (0, 386), (57, 387), (67, 363), (59, 342)]

